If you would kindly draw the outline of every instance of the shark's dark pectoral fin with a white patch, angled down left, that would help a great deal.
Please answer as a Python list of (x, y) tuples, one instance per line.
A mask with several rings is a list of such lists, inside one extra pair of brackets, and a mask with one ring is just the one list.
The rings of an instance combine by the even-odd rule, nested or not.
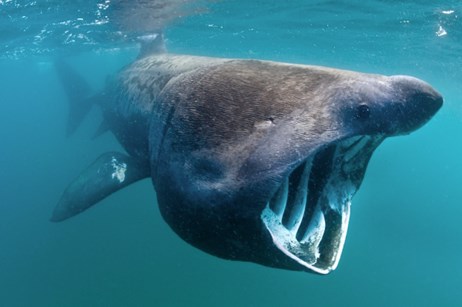
[(51, 221), (59, 222), (79, 214), (149, 174), (150, 168), (145, 162), (118, 152), (105, 153), (67, 187)]

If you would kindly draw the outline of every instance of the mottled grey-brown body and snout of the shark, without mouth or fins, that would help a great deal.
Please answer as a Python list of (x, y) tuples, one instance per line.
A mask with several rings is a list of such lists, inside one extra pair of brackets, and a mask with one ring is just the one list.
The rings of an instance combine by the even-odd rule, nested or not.
[(413, 78), (167, 54), (126, 67), (104, 96), (111, 130), (149, 163), (178, 235), (219, 257), (294, 270), (304, 268), (260, 220), (282, 179), (327, 143), (407, 134), (441, 105)]

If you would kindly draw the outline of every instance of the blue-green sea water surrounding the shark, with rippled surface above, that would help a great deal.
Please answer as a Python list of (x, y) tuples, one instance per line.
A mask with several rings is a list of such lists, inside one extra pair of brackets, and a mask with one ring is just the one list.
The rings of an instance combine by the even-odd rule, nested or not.
[(65, 137), (52, 65), (67, 56), (96, 90), (136, 57), (146, 29), (120, 32), (112, 2), (0, 1), (0, 306), (462, 305), (459, 1), (201, 2), (164, 30), (172, 52), (410, 74), (443, 94), (432, 121), (375, 152), (328, 276), (198, 251), (163, 222), (149, 180), (48, 221), (79, 171), (120, 148), (92, 140), (97, 110)]

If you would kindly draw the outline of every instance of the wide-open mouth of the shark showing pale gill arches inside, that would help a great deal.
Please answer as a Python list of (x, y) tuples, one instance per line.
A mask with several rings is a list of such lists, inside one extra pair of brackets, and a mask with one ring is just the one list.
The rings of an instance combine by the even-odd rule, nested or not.
[(383, 139), (364, 135), (328, 144), (289, 174), (261, 214), (277, 248), (308, 270), (335, 270), (350, 200)]

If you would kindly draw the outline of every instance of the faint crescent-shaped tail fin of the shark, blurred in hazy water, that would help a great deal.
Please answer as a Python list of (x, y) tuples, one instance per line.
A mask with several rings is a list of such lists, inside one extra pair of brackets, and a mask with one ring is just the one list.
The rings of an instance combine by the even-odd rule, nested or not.
[(55, 61), (58, 77), (69, 100), (69, 118), (66, 135), (72, 135), (90, 111), (95, 97), (88, 83), (63, 60)]

